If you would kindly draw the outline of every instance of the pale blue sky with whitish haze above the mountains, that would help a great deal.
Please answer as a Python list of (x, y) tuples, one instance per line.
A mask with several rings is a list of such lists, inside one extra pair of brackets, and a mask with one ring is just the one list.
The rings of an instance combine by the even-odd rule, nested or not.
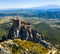
[(60, 0), (0, 0), (0, 9), (60, 5)]

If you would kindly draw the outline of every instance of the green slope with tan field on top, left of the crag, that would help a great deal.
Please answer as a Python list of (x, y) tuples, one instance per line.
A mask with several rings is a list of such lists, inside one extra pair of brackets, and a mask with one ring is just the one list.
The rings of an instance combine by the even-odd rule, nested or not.
[[(10, 27), (11, 27), (10, 19), (8, 22), (6, 19), (2, 19), (2, 21), (0, 20), (0, 40), (3, 36), (8, 35), (8, 32), (9, 32)], [(1, 22), (3, 22), (3, 23), (1, 23)]]

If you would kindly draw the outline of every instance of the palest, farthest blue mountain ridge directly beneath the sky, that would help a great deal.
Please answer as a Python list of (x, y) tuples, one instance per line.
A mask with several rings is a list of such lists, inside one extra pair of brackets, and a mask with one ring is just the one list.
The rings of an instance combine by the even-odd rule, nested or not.
[(0, 9), (0, 11), (11, 11), (11, 10), (27, 10), (27, 9), (35, 9), (35, 10), (41, 10), (41, 9), (60, 9), (59, 5), (44, 5), (44, 6), (36, 6), (36, 7), (30, 7), (30, 8), (8, 8), (8, 9)]

